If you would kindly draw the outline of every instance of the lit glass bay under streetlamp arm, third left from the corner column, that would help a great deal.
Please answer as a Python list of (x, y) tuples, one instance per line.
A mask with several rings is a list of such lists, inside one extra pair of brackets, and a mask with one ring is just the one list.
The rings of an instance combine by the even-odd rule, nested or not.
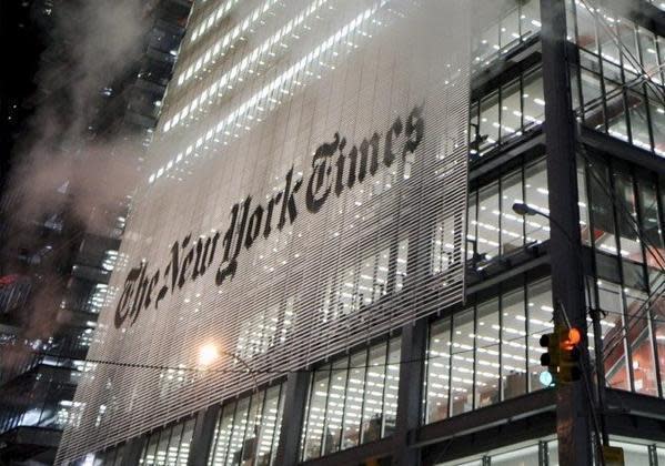
[(283, 384), (224, 404), (214, 429), (208, 464), (274, 464), (283, 404)]

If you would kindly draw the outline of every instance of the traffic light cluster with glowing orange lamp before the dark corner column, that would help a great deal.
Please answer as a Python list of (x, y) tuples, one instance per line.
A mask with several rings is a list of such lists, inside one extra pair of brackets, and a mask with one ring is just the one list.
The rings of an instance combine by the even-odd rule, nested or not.
[(567, 384), (580, 379), (581, 342), (582, 332), (576, 327), (555, 326), (553, 333), (541, 336), (541, 346), (547, 348), (547, 352), (541, 355), (541, 365), (547, 367), (547, 372), (541, 374), (543, 385)]

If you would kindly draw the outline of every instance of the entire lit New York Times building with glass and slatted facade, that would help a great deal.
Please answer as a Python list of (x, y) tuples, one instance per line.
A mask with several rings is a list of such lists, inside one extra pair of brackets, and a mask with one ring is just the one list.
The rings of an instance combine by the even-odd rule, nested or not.
[(60, 463), (665, 460), (665, 4), (496, 3), (194, 3)]

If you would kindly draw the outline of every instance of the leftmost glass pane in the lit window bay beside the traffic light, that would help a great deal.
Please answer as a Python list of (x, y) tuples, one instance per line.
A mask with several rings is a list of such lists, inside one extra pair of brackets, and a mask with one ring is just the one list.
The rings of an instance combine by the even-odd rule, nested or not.
[(430, 347), (426, 361), (425, 423), (447, 417), (451, 371), (451, 320), (444, 318), (430, 327)]

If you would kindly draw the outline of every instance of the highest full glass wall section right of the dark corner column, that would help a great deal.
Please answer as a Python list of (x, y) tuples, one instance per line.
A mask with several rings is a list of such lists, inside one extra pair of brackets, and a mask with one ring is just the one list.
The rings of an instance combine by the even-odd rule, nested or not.
[(568, 0), (580, 63), (573, 105), (596, 131), (665, 155), (665, 38), (603, 8)]

